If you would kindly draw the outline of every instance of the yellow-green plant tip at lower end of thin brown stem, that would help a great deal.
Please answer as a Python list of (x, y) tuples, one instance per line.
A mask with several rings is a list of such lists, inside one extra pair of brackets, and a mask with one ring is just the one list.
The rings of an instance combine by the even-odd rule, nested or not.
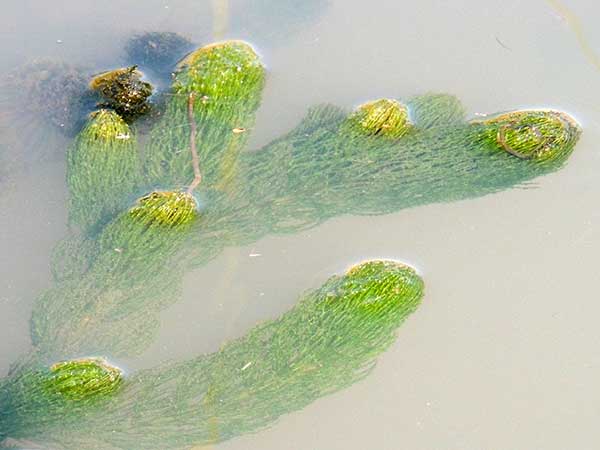
[(155, 191), (139, 199), (130, 214), (135, 219), (177, 226), (196, 217), (196, 206), (196, 200), (187, 192)]

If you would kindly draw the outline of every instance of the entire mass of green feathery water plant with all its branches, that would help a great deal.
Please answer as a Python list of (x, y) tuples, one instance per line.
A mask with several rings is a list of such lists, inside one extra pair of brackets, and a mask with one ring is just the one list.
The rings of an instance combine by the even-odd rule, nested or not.
[(403, 264), (359, 264), (216, 353), (127, 376), (96, 356), (145, 351), (184, 274), (227, 246), (518, 186), (562, 167), (580, 135), (562, 112), (468, 121), (455, 97), (428, 94), (352, 112), (317, 106), (243, 152), (264, 85), (252, 47), (222, 42), (176, 68), (145, 139), (123, 109), (88, 117), (68, 152), (72, 233), (35, 302), (33, 349), (0, 381), (0, 442), (190, 448), (349, 386), (421, 300), (423, 282)]

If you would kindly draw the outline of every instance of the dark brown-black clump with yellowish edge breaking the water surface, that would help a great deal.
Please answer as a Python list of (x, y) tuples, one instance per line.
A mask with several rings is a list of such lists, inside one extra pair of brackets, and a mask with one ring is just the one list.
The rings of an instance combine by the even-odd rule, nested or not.
[(111, 70), (96, 75), (90, 82), (90, 89), (102, 98), (98, 106), (113, 109), (125, 121), (131, 122), (150, 110), (148, 97), (153, 88), (142, 77), (137, 66)]

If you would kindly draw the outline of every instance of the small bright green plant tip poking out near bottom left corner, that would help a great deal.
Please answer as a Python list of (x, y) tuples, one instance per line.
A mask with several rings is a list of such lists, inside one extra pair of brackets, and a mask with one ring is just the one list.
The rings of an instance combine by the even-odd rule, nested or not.
[(101, 398), (115, 392), (123, 381), (123, 374), (100, 358), (63, 361), (50, 367), (45, 381), (47, 392), (59, 393), (71, 401)]

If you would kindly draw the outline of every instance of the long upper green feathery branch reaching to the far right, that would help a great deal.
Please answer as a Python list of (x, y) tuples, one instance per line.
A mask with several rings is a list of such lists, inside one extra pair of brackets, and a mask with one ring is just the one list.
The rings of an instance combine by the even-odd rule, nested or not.
[[(340, 214), (390, 213), (482, 196), (557, 170), (580, 133), (565, 113), (500, 117), (515, 131), (506, 132), (509, 145), (521, 152), (528, 145), (541, 148), (543, 156), (525, 160), (506, 151), (497, 138), (501, 125), (492, 120), (425, 129), (417, 122), (413, 132), (389, 140), (349, 136), (342, 111), (319, 108), (284, 138), (243, 155), (236, 192), (246, 191), (256, 209), (264, 205), (258, 216), (270, 215), (273, 231), (288, 219), (319, 223)], [(538, 133), (541, 143), (531, 138)]]

